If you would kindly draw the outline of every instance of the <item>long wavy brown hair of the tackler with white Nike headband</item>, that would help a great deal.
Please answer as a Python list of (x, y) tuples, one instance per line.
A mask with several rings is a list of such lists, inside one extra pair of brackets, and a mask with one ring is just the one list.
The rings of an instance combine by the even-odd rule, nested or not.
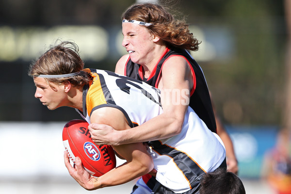
[(145, 26), (149, 32), (159, 36), (168, 46), (196, 51), (200, 42), (194, 38), (184, 20), (175, 19), (165, 7), (155, 3), (132, 4), (122, 19), (138, 20), (153, 25)]

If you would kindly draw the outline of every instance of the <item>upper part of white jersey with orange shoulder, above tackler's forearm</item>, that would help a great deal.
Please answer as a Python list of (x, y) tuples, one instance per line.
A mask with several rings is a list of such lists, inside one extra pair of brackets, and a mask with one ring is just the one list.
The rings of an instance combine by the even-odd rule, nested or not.
[[(145, 123), (153, 115), (162, 113), (159, 90), (110, 71), (83, 69), (91, 74), (93, 82), (83, 89), (82, 117), (90, 123), (91, 113), (102, 107), (113, 107), (124, 113), (130, 127)], [(79, 112), (79, 111), (78, 111)], [(114, 118), (112, 118), (114, 119)]]

